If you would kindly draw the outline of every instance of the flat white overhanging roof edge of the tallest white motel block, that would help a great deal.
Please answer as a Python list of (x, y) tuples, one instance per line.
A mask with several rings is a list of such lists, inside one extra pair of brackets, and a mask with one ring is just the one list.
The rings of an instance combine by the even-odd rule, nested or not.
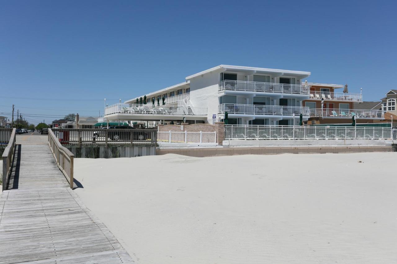
[(186, 80), (191, 78), (200, 76), (205, 73), (210, 73), (212, 71), (216, 71), (219, 69), (224, 69), (224, 71), (254, 71), (254, 73), (283, 73), (285, 75), (292, 75), (292, 76), (302, 76), (303, 78), (309, 77), (309, 71), (291, 71), (291, 70), (281, 70), (281, 69), (270, 69), (270, 68), (259, 68), (259, 67), (247, 67), (247, 66), (235, 66), (235, 65), (218, 65), (211, 69), (200, 71), (199, 73), (190, 75), (186, 77)]

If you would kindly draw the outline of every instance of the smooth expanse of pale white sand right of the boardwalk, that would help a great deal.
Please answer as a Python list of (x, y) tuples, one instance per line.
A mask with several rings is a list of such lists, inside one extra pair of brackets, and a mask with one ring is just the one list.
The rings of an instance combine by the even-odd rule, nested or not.
[(138, 263), (397, 263), (396, 161), (75, 159), (75, 191)]

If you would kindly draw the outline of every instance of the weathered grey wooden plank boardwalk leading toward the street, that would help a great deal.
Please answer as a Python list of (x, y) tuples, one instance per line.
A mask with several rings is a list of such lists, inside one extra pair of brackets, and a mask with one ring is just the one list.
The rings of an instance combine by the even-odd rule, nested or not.
[(0, 198), (0, 264), (134, 262), (68, 186), (48, 145), (18, 145)]

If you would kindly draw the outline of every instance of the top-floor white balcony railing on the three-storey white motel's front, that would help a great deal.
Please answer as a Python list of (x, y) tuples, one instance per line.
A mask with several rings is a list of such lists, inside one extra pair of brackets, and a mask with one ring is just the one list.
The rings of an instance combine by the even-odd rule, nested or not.
[(308, 94), (309, 86), (299, 84), (281, 84), (273, 82), (245, 82), (223, 80), (222, 82), (219, 82), (218, 91), (224, 90), (282, 94)]

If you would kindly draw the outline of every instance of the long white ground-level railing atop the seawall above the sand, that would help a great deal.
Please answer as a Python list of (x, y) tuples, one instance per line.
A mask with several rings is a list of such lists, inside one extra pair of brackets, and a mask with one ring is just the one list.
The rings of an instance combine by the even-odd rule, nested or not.
[(392, 129), (354, 126), (225, 125), (227, 140), (390, 139)]

